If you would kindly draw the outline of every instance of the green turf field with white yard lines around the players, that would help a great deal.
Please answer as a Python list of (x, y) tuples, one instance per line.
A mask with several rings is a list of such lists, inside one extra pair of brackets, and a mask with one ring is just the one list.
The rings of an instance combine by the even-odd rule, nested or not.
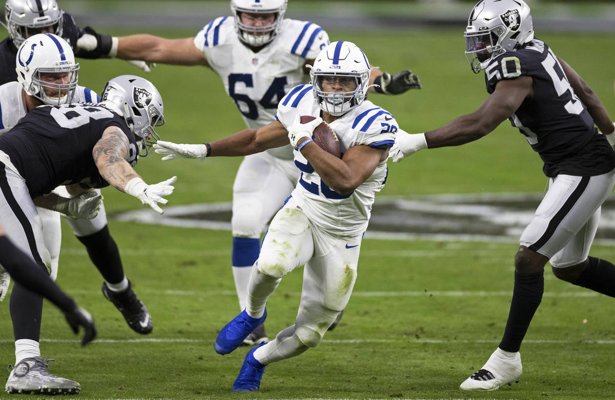
[[(356, 42), (373, 65), (411, 68), (423, 90), (370, 95), (409, 132), (439, 127), (477, 108), (486, 97), (482, 74), (464, 57), (463, 26), (397, 33), (330, 31)], [(103, 29), (101, 29), (103, 31)], [(108, 32), (108, 31), (105, 31)], [(152, 29), (154, 32), (154, 29)], [(196, 31), (155, 31), (191, 36)], [(112, 32), (109, 32), (112, 33)], [(124, 34), (128, 31), (115, 31)], [(539, 34), (585, 77), (615, 113), (612, 34)], [(80, 83), (97, 92), (109, 78), (140, 70), (123, 61), (82, 61)], [(202, 143), (242, 129), (220, 79), (200, 67), (157, 66), (146, 77), (165, 103), (165, 140)], [(177, 175), (170, 205), (228, 202), (240, 159), (140, 160), (147, 182)], [(542, 192), (541, 162), (508, 124), (463, 147), (419, 152), (389, 166), (384, 196)], [(103, 190), (109, 214), (141, 210), (134, 198)], [(378, 200), (376, 200), (378, 202)], [(459, 383), (485, 363), (504, 330), (517, 243), (366, 239), (359, 277), (341, 325), (320, 347), (271, 364), (259, 393), (233, 394), (245, 348), (213, 351), (218, 330), (239, 312), (230, 269), (231, 234), (109, 221), (135, 291), (153, 316), (142, 337), (100, 292), (102, 279), (81, 243), (63, 226), (58, 283), (95, 316), (98, 339), (79, 347), (49, 303), (41, 351), (54, 374), (82, 385), (79, 399), (613, 399), (613, 300), (558, 281), (546, 272), (546, 294), (522, 347), (520, 383), (466, 393)], [(613, 260), (613, 247), (592, 254)], [(268, 304), (269, 335), (290, 326), (301, 272), (284, 278)], [(0, 363), (14, 363), (8, 300), (0, 307)], [(584, 323), (584, 321), (586, 322)], [(0, 382), (8, 373), (0, 374)], [(0, 398), (15, 398), (2, 396)], [(27, 398), (38, 398), (28, 396)]]

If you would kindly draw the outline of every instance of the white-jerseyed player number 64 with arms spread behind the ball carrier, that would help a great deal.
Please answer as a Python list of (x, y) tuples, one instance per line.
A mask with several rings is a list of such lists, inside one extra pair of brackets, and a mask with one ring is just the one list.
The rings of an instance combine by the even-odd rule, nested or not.
[[(235, 101), (248, 128), (276, 120), (280, 99), (305, 83), (314, 58), (329, 43), (320, 26), (284, 18), (287, 0), (232, 0), (231, 17), (216, 18), (194, 37), (119, 37), (117, 57), (213, 69)], [(421, 88), (410, 70), (394, 76), (371, 71), (370, 91), (399, 94)], [(258, 176), (258, 179), (254, 179)], [(249, 155), (237, 171), (232, 195), (232, 273), (240, 309), (245, 308), (250, 270), (260, 236), (299, 178), (290, 146)], [(335, 324), (331, 328), (335, 327)], [(264, 327), (247, 345), (267, 340)]]

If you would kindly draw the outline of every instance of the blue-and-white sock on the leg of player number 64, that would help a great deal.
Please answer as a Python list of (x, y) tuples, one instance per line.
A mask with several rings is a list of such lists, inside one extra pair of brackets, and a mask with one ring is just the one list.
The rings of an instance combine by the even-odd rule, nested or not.
[(248, 281), (252, 265), (258, 259), (260, 242), (257, 238), (232, 238), (232, 275), (239, 299), (239, 309), (244, 310), (248, 297)]

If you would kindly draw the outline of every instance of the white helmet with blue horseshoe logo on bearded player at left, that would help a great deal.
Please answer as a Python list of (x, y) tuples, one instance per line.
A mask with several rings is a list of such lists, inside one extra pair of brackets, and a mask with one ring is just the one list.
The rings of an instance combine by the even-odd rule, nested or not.
[(77, 88), (79, 64), (62, 37), (38, 33), (17, 50), (17, 82), (28, 95), (52, 106), (71, 103)]

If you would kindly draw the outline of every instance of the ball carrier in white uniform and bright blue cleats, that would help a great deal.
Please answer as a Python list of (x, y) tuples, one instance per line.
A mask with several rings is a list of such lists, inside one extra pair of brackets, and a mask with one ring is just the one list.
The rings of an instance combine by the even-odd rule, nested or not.
[[(263, 238), (248, 281), (246, 308), (220, 331), (215, 350), (228, 354), (265, 320), (265, 305), (280, 280), (305, 265), (301, 302), (293, 326), (250, 350), (234, 391), (259, 390), (264, 367), (319, 345), (344, 310), (357, 278), (361, 241), (376, 193), (387, 177), (387, 151), (397, 122), (365, 100), (370, 85), (367, 57), (351, 42), (333, 42), (311, 66), (311, 84), (299, 85), (277, 108), (277, 120), (206, 144), (158, 141), (163, 160), (175, 157), (246, 155), (293, 147), (300, 178)], [(301, 124), (300, 116), (315, 117)], [(322, 116), (322, 117), (321, 117)], [(322, 121), (335, 131), (343, 157), (311, 139)]]

